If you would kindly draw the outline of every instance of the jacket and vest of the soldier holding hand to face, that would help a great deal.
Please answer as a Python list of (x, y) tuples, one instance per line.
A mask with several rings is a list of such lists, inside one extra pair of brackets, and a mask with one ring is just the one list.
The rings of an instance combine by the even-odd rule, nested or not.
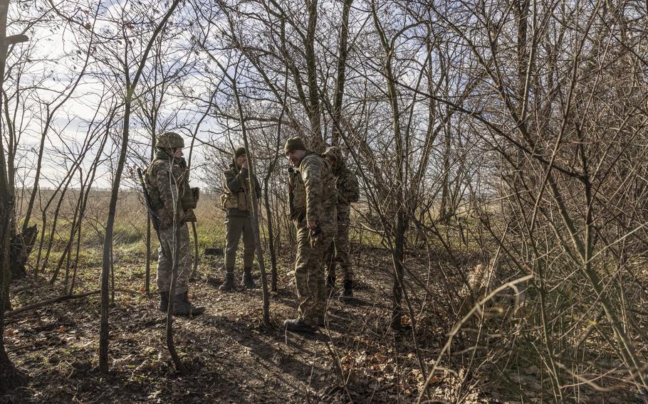
[[(254, 174), (252, 179), (258, 201), (261, 198), (261, 184)], [(248, 171), (230, 164), (229, 169), (223, 173), (224, 193), (221, 197), (221, 207), (227, 212), (227, 216), (250, 216), (252, 198), (249, 197), (249, 188)]]

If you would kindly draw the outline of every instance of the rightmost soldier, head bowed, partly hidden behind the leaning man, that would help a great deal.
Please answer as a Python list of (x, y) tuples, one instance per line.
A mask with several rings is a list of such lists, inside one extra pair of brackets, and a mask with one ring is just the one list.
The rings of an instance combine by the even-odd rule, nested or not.
[(360, 198), (360, 189), (357, 186), (357, 177), (347, 168), (342, 150), (333, 146), (326, 149), (323, 156), (330, 162), (335, 176), (335, 185), (338, 189), (338, 233), (330, 243), (324, 254), (326, 265), (326, 285), (335, 289), (335, 265), (339, 264), (342, 270), (344, 289), (343, 297), (353, 296), (353, 270), (349, 257), (349, 224), (351, 203)]

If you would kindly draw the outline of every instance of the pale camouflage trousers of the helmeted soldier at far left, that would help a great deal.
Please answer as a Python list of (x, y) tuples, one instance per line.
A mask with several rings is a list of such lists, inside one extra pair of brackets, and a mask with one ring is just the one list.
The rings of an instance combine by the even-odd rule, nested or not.
[[(160, 230), (160, 247), (157, 248), (157, 290), (168, 292), (171, 288), (171, 271), (174, 251), (173, 228)], [(179, 228), (178, 277), (175, 282), (175, 294), (187, 292), (189, 275), (192, 273), (192, 254), (189, 250), (189, 229), (187, 223)], [(164, 253), (162, 253), (164, 251)]]

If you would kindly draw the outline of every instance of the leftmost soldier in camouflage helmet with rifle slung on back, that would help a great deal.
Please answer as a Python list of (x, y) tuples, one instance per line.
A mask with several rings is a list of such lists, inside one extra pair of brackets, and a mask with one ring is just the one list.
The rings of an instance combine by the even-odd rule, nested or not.
[[(157, 289), (160, 292), (160, 311), (169, 307), (169, 288), (173, 266), (174, 243), (178, 244), (177, 279), (173, 297), (173, 314), (198, 315), (204, 307), (194, 307), (188, 299), (188, 281), (192, 272), (187, 222), (195, 222), (194, 208), (198, 188), (189, 188), (189, 169), (182, 158), (184, 141), (174, 132), (161, 134), (157, 139), (155, 159), (147, 169), (146, 183), (152, 207), (160, 228), (160, 247), (157, 258)], [(175, 216), (175, 220), (174, 220)], [(177, 228), (178, 233), (174, 230)], [(176, 234), (178, 234), (177, 240)]]

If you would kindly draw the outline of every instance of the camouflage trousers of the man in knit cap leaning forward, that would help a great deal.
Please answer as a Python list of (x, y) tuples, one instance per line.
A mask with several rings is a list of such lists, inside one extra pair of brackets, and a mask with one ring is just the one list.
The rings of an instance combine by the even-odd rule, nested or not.
[(324, 280), (324, 252), (333, 240), (338, 228), (335, 209), (320, 218), (322, 238), (314, 247), (310, 245), (310, 230), (306, 220), (297, 227), (297, 258), (295, 262), (295, 281), (299, 299), (299, 319), (309, 325), (317, 325), (326, 311), (326, 284)]

